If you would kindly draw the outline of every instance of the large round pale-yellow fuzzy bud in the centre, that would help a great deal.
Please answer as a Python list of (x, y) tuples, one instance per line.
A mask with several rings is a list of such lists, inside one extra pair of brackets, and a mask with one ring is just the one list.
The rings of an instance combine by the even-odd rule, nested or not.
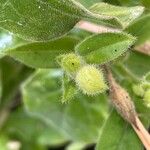
[(88, 95), (99, 94), (107, 89), (103, 73), (91, 65), (82, 67), (78, 71), (75, 81), (83, 93)]

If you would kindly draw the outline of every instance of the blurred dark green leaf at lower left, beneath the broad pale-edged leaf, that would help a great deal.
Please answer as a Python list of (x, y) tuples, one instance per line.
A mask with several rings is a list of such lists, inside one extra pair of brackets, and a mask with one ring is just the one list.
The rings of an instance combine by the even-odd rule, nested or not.
[(43, 146), (54, 146), (66, 141), (57, 130), (47, 126), (43, 121), (29, 116), (22, 108), (10, 114), (3, 132), (10, 137), (19, 139), (22, 143), (33, 142)]

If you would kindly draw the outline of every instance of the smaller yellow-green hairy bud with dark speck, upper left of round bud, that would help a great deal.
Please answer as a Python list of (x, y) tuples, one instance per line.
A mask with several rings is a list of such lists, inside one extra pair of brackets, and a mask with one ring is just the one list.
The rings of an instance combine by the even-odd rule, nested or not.
[(57, 59), (64, 71), (70, 74), (76, 73), (83, 64), (81, 57), (74, 53), (61, 55)]

